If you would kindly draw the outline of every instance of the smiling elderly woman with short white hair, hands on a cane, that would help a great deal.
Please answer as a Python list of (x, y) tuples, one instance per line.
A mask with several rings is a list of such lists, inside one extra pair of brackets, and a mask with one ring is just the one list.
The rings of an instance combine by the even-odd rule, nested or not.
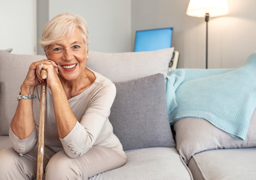
[(20, 95), (35, 96), (19, 100), (9, 132), (14, 149), (0, 152), (1, 179), (36, 178), (42, 69), (48, 86), (45, 178), (88, 179), (125, 164), (108, 119), (116, 89), (86, 68), (88, 43), (87, 24), (76, 14), (57, 15), (45, 25), (40, 44), (47, 60), (33, 62), (21, 84)]

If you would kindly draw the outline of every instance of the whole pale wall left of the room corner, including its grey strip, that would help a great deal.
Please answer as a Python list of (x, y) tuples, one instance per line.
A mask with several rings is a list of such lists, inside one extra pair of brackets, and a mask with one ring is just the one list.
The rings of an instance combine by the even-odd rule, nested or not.
[[(37, 10), (38, 9), (38, 10)], [(0, 3), (0, 49), (44, 55), (43, 26), (59, 13), (78, 13), (88, 23), (89, 49), (125, 52), (131, 47), (131, 0), (8, 0)]]

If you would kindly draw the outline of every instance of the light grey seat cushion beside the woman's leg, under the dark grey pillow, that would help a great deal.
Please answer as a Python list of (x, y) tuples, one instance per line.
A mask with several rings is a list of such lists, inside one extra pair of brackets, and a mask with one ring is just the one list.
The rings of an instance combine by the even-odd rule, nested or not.
[(126, 164), (93, 176), (90, 180), (192, 179), (190, 171), (175, 148), (153, 147), (125, 152)]

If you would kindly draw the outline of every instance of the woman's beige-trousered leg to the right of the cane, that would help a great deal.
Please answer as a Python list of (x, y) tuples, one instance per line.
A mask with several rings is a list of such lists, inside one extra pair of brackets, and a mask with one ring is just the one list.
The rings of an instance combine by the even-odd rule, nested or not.
[[(126, 157), (126, 156), (125, 156)], [(81, 157), (69, 158), (64, 151), (56, 153), (46, 167), (46, 180), (87, 179), (125, 164), (125, 157), (110, 148), (93, 146)]]

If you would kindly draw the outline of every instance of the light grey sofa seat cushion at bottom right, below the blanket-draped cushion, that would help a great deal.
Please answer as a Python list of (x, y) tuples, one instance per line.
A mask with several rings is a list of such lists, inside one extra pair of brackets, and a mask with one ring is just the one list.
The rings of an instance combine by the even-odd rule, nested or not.
[(215, 149), (193, 155), (188, 164), (194, 179), (256, 179), (256, 147)]

